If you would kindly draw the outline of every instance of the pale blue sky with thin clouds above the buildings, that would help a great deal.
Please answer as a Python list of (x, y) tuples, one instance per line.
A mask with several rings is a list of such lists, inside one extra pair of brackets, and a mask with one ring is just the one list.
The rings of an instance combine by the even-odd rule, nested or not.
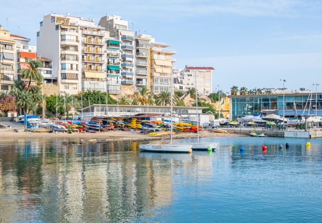
[(315, 81), (322, 92), (322, 0), (11, 0), (1, 7), (3, 28), (34, 45), (44, 14), (96, 23), (120, 15), (137, 33), (171, 44), (175, 67), (213, 66), (214, 89), (280, 88), (285, 79), (288, 90)]

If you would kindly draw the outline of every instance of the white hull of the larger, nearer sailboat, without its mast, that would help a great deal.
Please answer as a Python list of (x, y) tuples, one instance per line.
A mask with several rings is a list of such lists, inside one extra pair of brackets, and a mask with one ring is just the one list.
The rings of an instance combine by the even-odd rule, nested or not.
[(139, 148), (148, 152), (161, 152), (161, 153), (191, 153), (191, 144), (185, 145), (171, 145), (171, 144), (146, 144), (140, 145)]

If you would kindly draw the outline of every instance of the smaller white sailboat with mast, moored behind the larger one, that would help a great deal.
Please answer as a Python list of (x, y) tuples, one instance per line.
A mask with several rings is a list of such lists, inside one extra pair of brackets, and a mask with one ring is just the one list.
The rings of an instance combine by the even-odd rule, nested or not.
[[(171, 81), (172, 81), (172, 72), (171, 72)], [(187, 143), (175, 143), (175, 145), (192, 145), (192, 150), (208, 150), (208, 148), (212, 148), (215, 150), (218, 146), (218, 143), (210, 143), (210, 142), (200, 142), (199, 141), (199, 115), (198, 115), (198, 92), (197, 92), (197, 75), (195, 71), (195, 89), (196, 89), (196, 115), (197, 115), (197, 142), (187, 142)], [(172, 99), (172, 91), (171, 88), (171, 99)], [(220, 101), (220, 100), (219, 100)], [(171, 102), (172, 103), (172, 102)]]

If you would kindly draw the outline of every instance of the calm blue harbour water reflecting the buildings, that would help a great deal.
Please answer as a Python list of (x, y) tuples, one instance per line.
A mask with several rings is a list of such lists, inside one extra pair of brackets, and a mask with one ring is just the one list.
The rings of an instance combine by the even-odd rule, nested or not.
[(0, 222), (322, 222), (322, 139), (215, 140), (192, 156), (1, 140)]

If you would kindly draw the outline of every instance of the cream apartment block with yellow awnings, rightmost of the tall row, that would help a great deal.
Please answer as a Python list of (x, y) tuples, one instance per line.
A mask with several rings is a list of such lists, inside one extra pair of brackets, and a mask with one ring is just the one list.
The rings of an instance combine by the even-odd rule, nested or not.
[(172, 63), (175, 61), (171, 58), (176, 54), (170, 45), (165, 43), (151, 43), (151, 91), (159, 94), (161, 91), (171, 90), (171, 69)]

